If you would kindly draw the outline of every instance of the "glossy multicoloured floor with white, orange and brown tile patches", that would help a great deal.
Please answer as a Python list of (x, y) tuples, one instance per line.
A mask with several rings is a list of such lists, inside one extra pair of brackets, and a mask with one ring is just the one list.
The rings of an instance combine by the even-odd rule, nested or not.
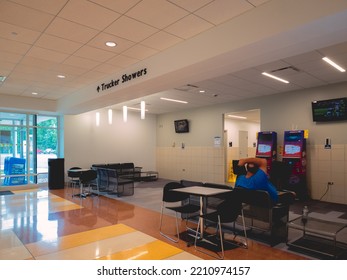
[[(72, 197), (66, 189), (12, 191), (0, 195), (0, 213), (2, 260), (214, 259), (162, 237), (158, 212), (104, 196)], [(164, 230), (174, 233), (174, 218), (165, 219)], [(225, 258), (305, 259), (252, 240), (248, 249), (227, 250)]]

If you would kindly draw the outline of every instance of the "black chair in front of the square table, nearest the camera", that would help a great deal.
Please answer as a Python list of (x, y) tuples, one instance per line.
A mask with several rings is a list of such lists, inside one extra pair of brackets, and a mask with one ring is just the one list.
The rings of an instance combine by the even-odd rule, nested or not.
[[(243, 242), (236, 242), (235, 240), (238, 235), (236, 233), (235, 223), (239, 216), (241, 216), (242, 218), (242, 230), (244, 234)], [(224, 233), (227, 229), (229, 229), (228, 231), (230, 231), (230, 229), (232, 229), (233, 231), (234, 239), (232, 244), (234, 246), (248, 248), (247, 232), (242, 209), (242, 193), (238, 191), (232, 191), (231, 193), (228, 193), (228, 195), (224, 197), (224, 201), (217, 206), (216, 211), (200, 216), (198, 227), (200, 226), (202, 219), (204, 219), (205, 222), (210, 222), (211, 225), (215, 225), (216, 231), (214, 234), (203, 237), (202, 240), (200, 240), (198, 233), (196, 233), (194, 242), (196, 250), (218, 259), (224, 259), (224, 242), (227, 242), (224, 238)], [(232, 224), (232, 227), (227, 226), (230, 223)], [(225, 225), (225, 228), (223, 228), (223, 225)], [(204, 239), (207, 239), (207, 241), (204, 241)], [(197, 242), (199, 240), (201, 241), (202, 247), (197, 246)], [(231, 243), (231, 241), (229, 241), (229, 243)], [(202, 249), (206, 244), (212, 245), (213, 248), (211, 248), (211, 250)], [(214, 253), (212, 253), (212, 251), (214, 251)]]

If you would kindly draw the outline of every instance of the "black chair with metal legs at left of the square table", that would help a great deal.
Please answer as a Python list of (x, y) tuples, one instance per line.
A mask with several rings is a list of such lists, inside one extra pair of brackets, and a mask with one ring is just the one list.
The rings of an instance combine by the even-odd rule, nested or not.
[[(163, 188), (163, 199), (162, 199), (162, 205), (161, 205), (159, 231), (162, 236), (176, 243), (180, 239), (179, 228), (178, 228), (178, 216), (177, 216), (178, 213), (180, 213), (181, 216), (182, 214), (196, 214), (195, 216), (197, 216), (199, 215), (199, 211), (200, 211), (200, 205), (190, 203), (189, 194), (173, 191), (174, 189), (183, 188), (183, 187), (184, 186), (182, 186), (178, 182), (169, 182)], [(169, 236), (168, 234), (165, 234), (162, 231), (164, 209), (168, 209), (175, 212), (177, 239)], [(191, 230), (191, 228), (188, 227), (189, 218), (192, 218), (192, 217), (191, 216), (186, 217), (184, 218), (184, 220), (186, 221), (186, 228), (188, 230)], [(196, 230), (194, 230), (194, 232), (195, 231)]]

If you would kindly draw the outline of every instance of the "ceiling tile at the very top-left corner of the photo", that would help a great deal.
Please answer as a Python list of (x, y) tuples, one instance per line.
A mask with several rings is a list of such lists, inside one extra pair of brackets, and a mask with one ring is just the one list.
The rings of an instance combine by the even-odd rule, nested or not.
[(0, 9), (1, 21), (35, 31), (44, 31), (54, 16), (5, 1)]

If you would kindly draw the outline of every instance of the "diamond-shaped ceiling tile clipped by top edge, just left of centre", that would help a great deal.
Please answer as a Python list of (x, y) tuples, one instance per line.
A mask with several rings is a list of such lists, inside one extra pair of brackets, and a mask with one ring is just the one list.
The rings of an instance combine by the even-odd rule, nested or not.
[(173, 5), (168, 1), (142, 0), (126, 15), (158, 29), (178, 21), (188, 14), (184, 9)]

